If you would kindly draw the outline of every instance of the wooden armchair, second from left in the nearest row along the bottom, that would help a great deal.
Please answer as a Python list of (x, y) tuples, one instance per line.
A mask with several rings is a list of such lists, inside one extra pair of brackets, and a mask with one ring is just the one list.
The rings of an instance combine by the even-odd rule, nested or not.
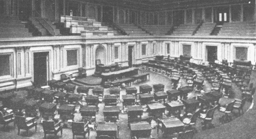
[(22, 117), (22, 116), (15, 116), (15, 124), (17, 124), (18, 127), (18, 135), (20, 132), (20, 129), (27, 130), (27, 135), (29, 135), (29, 129), (32, 127), (35, 127), (35, 132), (37, 129), (37, 122), (35, 121), (35, 117)]

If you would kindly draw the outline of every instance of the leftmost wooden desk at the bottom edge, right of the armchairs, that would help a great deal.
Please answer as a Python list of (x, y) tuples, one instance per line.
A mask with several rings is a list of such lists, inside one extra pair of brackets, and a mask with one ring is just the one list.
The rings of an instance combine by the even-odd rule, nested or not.
[(98, 124), (96, 129), (97, 136), (108, 135), (118, 137), (118, 125), (117, 124)]

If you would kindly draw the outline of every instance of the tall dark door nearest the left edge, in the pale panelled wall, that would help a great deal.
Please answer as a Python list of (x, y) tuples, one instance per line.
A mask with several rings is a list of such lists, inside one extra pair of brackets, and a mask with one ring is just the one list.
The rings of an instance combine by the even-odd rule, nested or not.
[(47, 69), (48, 69), (49, 52), (34, 53), (34, 85), (41, 87), (47, 86)]

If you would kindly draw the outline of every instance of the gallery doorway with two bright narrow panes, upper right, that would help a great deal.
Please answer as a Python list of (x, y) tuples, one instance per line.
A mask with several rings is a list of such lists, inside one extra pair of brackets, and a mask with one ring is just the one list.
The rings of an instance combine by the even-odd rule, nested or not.
[(224, 22), (229, 22), (229, 7), (219, 7), (216, 12), (216, 22), (222, 25)]

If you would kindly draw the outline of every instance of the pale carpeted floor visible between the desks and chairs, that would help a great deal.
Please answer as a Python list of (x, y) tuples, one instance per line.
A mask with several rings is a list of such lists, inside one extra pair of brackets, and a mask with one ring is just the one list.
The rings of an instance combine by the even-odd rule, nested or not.
[[(165, 91), (167, 90), (170, 90), (172, 88), (172, 82), (170, 81), (170, 79), (166, 76), (163, 76), (161, 74), (158, 74), (158, 73), (153, 73), (153, 72), (149, 72), (150, 73), (150, 80), (148, 81), (144, 81), (144, 82), (134, 82), (134, 84), (132, 86), (136, 87), (138, 90), (139, 90), (139, 86), (140, 85), (144, 85), (144, 84), (147, 84), (147, 85), (150, 85), (150, 86), (153, 86), (154, 84), (163, 84), (165, 85)], [(253, 72), (252, 74), (252, 78), (255, 78), (256, 77), (256, 74)], [(180, 80), (180, 86), (185, 86), (186, 85), (186, 81), (185, 79), (181, 79)], [(211, 85), (205, 81), (204, 82), (204, 91), (209, 91), (211, 88)], [(232, 91), (234, 92), (234, 98), (238, 98), (238, 99), (241, 99), (241, 92), (238, 88), (236, 88), (235, 85), (232, 86)], [(89, 91), (89, 94), (92, 94), (92, 90), (90, 89)], [(109, 89), (105, 89), (104, 90), (104, 94), (109, 94)], [(121, 90), (121, 94), (120, 94), (120, 97), (122, 95), (125, 94), (125, 90)], [(191, 97), (194, 97), (196, 95), (195, 91), (191, 92), (190, 94), (188, 94), (188, 97), (191, 98)], [(246, 110), (249, 108), (249, 106), (251, 105), (250, 102), (246, 102), (245, 104), (245, 107), (244, 107), (244, 111), (246, 112)], [(120, 109), (122, 108), (122, 103), (119, 103), (118, 106), (120, 106)], [(99, 104), (99, 112), (98, 114), (96, 115), (96, 121), (104, 121), (104, 117), (103, 117), (103, 107), (104, 107), (104, 104), (103, 103), (100, 103)], [(77, 106), (76, 108), (79, 108), (79, 106)], [(184, 112), (182, 111), (182, 114)], [(238, 115), (236, 115), (237, 112), (235, 112), (234, 114), (232, 114), (232, 119), (236, 119), (238, 117)], [(145, 116), (147, 113), (144, 113), (143, 116)], [(212, 123), (214, 123), (214, 125), (216, 126), (216, 128), (218, 127), (221, 127), (221, 126), (225, 126), (225, 125), (222, 125), (222, 123), (219, 122), (219, 118), (222, 117), (223, 114), (218, 112), (218, 110), (216, 110), (216, 113), (215, 113), (215, 119), (212, 121)], [(75, 114), (75, 120), (79, 121), (81, 119), (81, 116), (80, 116), (80, 113), (76, 113)], [(119, 138), (122, 139), (122, 138), (131, 138), (130, 136), (130, 130), (129, 128), (127, 127), (127, 114), (126, 113), (123, 113), (121, 112), (119, 114), (119, 125), (120, 125), (120, 130), (119, 130)], [(38, 119), (38, 123), (40, 122), (40, 119)], [(162, 133), (161, 131), (159, 132), (159, 134), (157, 134), (157, 130), (156, 128), (154, 128), (156, 126), (156, 122), (155, 121), (152, 121), (152, 136), (155, 137), (155, 138), (170, 138), (170, 137), (175, 137), (177, 136), (177, 134), (173, 134), (173, 135), (170, 135), (170, 136), (167, 136), (167, 137), (163, 137), (162, 136)], [(0, 127), (0, 138), (43, 138), (44, 137), (44, 131), (42, 129), (42, 126), (39, 124), (38, 125), (38, 128), (37, 128), (37, 132), (35, 133), (35, 130), (34, 128), (30, 129), (29, 130), (29, 137), (25, 137), (25, 131), (22, 130), (21, 131), (21, 134), (20, 135), (17, 135), (17, 128), (13, 126), (13, 123), (9, 124), (9, 126), (7, 127), (9, 131), (3, 131), (3, 126)], [(207, 132), (206, 131), (202, 131), (202, 128), (201, 128), (201, 120), (198, 119), (197, 120), (197, 124), (196, 124), (196, 128), (198, 130), (198, 133), (197, 134), (204, 134), (204, 132)], [(211, 129), (211, 130), (215, 130), (215, 129)], [(235, 132), (236, 129), (234, 129), (234, 132)], [(196, 134), (196, 135), (197, 135)], [(231, 134), (231, 133), (230, 133)], [(96, 131), (95, 130), (92, 130), (90, 132), (90, 138), (95, 138), (96, 137)], [(205, 136), (207, 138), (207, 136)], [(63, 129), (63, 135), (60, 136), (60, 133), (58, 133), (57, 136), (55, 135), (48, 135), (47, 138), (72, 138), (72, 131), (71, 131), (71, 128), (65, 128)], [(82, 138), (82, 136), (77, 136), (76, 138)], [(88, 138), (88, 136), (87, 136)], [(204, 137), (201, 137), (201, 138), (204, 138)]]

